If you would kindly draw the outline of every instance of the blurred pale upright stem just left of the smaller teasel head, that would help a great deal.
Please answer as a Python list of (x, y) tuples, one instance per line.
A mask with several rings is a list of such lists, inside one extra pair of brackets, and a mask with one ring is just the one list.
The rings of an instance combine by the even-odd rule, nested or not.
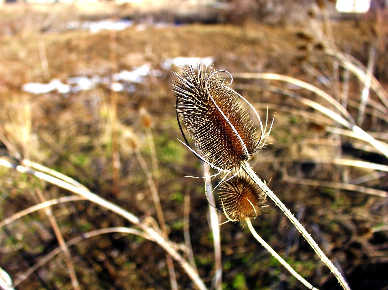
[(209, 198), (209, 212), (210, 212), (210, 227), (211, 232), (213, 233), (213, 244), (214, 244), (214, 278), (213, 283), (215, 285), (216, 290), (222, 289), (222, 259), (221, 259), (221, 237), (220, 237), (220, 221), (218, 218), (218, 211), (211, 204), (215, 204), (213, 188), (211, 186), (211, 178), (210, 178), (210, 165), (206, 162), (203, 162), (203, 172), (204, 176), (206, 176), (206, 192), (208, 193)]

